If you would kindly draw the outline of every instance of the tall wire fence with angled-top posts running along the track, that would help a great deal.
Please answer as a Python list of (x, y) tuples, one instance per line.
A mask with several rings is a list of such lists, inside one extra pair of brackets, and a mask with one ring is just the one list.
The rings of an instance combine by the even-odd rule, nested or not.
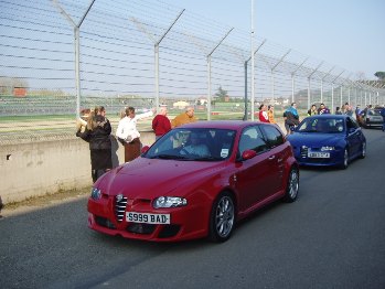
[(126, 106), (161, 104), (172, 116), (185, 100), (201, 119), (242, 119), (245, 104), (385, 103), (384, 83), (157, 0), (0, 0), (0, 10), (2, 135), (36, 119), (46, 124), (36, 133), (73, 130), (79, 109), (96, 105), (118, 119)]

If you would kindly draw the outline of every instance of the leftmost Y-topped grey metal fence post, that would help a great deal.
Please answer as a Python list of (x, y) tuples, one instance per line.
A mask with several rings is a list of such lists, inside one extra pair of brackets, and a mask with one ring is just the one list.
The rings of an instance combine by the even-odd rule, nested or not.
[(58, 12), (64, 15), (69, 24), (74, 28), (74, 44), (75, 44), (75, 86), (76, 86), (76, 118), (81, 117), (81, 25), (93, 7), (95, 0), (92, 0), (87, 11), (83, 14), (81, 21), (76, 24), (67, 12), (60, 6), (57, 0), (52, 0), (52, 3), (58, 9)]

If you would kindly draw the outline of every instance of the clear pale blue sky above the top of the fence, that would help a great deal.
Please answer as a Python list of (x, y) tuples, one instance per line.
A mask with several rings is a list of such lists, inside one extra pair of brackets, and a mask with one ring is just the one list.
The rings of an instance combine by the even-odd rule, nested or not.
[[(163, 0), (336, 65), (352, 79), (385, 71), (385, 0)], [(363, 75), (364, 74), (364, 75)]]

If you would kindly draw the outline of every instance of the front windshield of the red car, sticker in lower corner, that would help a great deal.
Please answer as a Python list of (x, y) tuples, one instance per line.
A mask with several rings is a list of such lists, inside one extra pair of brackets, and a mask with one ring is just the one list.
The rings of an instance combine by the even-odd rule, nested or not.
[(148, 159), (221, 161), (229, 158), (236, 131), (215, 128), (175, 128), (142, 156)]

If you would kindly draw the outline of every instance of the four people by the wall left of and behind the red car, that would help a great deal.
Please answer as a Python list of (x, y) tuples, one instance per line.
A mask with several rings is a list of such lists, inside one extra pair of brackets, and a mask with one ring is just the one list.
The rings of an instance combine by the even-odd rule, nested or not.
[[(90, 167), (93, 182), (113, 169), (111, 151), (111, 125), (106, 118), (106, 109), (103, 106), (94, 110), (83, 110), (83, 117), (77, 121), (76, 136), (89, 143)], [(137, 129), (139, 119), (153, 116), (154, 110), (136, 114), (133, 107), (127, 107), (122, 118), (119, 120), (116, 137), (125, 147), (125, 162), (132, 161), (140, 156), (140, 132)], [(167, 116), (167, 107), (160, 107), (158, 115), (152, 119), (152, 129), (156, 139), (167, 133), (171, 128), (184, 124), (194, 122), (194, 108), (188, 107), (184, 113), (170, 121)]]

